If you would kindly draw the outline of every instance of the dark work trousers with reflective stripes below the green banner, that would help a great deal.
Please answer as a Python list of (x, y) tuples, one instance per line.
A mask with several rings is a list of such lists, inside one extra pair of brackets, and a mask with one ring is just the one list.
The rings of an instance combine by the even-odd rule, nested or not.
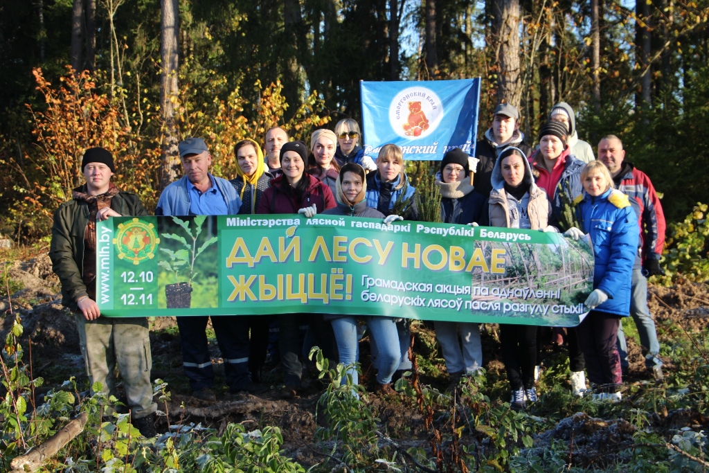
[[(207, 344), (209, 316), (179, 316), (182, 342), (182, 367), (193, 391), (211, 388), (214, 384), (212, 359)], [(249, 375), (249, 319), (242, 316), (213, 316), (212, 327), (224, 360), (224, 377), (230, 391), (240, 391), (251, 378)]]

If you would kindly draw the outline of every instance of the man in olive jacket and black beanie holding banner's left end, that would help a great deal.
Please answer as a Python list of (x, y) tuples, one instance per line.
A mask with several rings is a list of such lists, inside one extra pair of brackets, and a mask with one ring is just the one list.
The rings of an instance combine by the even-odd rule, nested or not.
[[(145, 216), (138, 196), (111, 182), (115, 167), (104, 148), (86, 150), (82, 172), (86, 184), (74, 189), (72, 200), (54, 214), (50, 258), (62, 283), (62, 304), (72, 310), (86, 371), (93, 385), (101, 383), (108, 397), (118, 397), (116, 367), (121, 373), (131, 421), (146, 437), (155, 435), (155, 411), (150, 384), (150, 338), (147, 318), (101, 317), (96, 304), (96, 222), (109, 217)], [(114, 411), (110, 404), (104, 416)]]

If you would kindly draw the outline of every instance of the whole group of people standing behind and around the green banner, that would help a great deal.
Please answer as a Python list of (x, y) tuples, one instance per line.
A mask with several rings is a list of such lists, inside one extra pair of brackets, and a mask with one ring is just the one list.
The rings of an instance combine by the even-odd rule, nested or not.
[[(554, 340), (569, 345), (574, 394), (586, 391), (586, 369), (594, 396), (620, 399), (622, 370), (627, 367), (620, 318), (635, 319), (646, 365), (657, 379), (662, 377), (645, 279), (661, 272), (664, 217), (659, 199), (647, 175), (625, 161), (623, 145), (615, 135), (601, 140), (594, 159), (591, 146), (578, 138), (568, 104), (554, 106), (540, 130), (537, 150), (525, 143), (519, 118), (510, 104), (496, 108), (491, 127), (476, 143), (475, 169), (466, 152), (456, 148), (445, 154), (435, 180), (442, 196), (441, 221), (562, 231), (570, 238), (590, 235), (596, 260), (593, 292), (586, 300), (590, 313), (578, 328), (566, 333), (557, 330)], [(406, 175), (401, 148), (384, 145), (373, 160), (364, 154), (361, 138), (359, 125), (349, 118), (337, 123), (334, 132), (314, 131), (309, 146), (291, 141), (282, 128), (272, 128), (264, 137), (265, 156), (255, 140), (247, 138), (235, 145), (237, 169), (230, 181), (209, 172), (212, 157), (204, 140), (188, 138), (179, 143), (184, 176), (162, 191), (155, 215), (299, 213), (311, 218), (325, 213), (381, 218), (386, 224), (417, 220), (415, 189)], [(63, 304), (77, 319), (91, 382), (100, 382), (104, 392), (115, 396), (113, 371), (118, 368), (134, 425), (144, 435), (154, 435), (157, 406), (150, 385), (147, 321), (100, 317), (95, 302), (96, 222), (147, 212), (135, 194), (111, 182), (115, 167), (107, 150), (86, 150), (82, 172), (86, 184), (74, 189), (72, 200), (55, 213), (50, 257), (62, 283)], [(573, 201), (580, 228), (560, 228), (562, 194)], [(178, 317), (177, 324), (192, 395), (215, 401), (208, 319)], [(218, 316), (211, 321), (225, 383), (235, 394), (267, 389), (261, 372), (269, 330), (275, 323), (284, 372), (279, 394), (284, 398), (296, 396), (301, 389), (303, 323), (308, 324), (306, 343), (323, 347), (330, 359), (349, 366), (354, 383), (363, 325), (371, 343), (376, 391), (391, 394), (393, 377), (411, 369), (410, 333), (403, 319), (333, 313)], [(452, 383), (483, 366), (479, 324), (436, 321), (435, 333)], [(501, 355), (514, 408), (537, 400), (539, 333), (534, 326), (501, 325)], [(104, 414), (112, 412), (113, 406), (107, 405)]]

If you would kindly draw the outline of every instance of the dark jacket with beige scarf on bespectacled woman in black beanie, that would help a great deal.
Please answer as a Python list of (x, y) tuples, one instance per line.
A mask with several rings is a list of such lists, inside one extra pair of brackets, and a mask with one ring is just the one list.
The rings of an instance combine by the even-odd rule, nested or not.
[(436, 175), (435, 184), (441, 194), (441, 221), (443, 223), (477, 223), (487, 225), (486, 199), (475, 192), (470, 179), (443, 182), (440, 174)]

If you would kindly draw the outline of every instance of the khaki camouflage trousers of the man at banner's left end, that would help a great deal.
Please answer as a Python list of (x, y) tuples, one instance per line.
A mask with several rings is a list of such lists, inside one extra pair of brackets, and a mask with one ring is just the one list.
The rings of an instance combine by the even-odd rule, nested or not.
[[(150, 384), (150, 336), (147, 318), (111, 318), (101, 316), (87, 321), (74, 313), (79, 329), (79, 344), (86, 362), (86, 372), (93, 385), (101, 383), (101, 392), (116, 396), (116, 368), (123, 379), (125, 397), (134, 419), (154, 413), (157, 404), (152, 400)], [(112, 414), (113, 406), (106, 406), (104, 416)]]

